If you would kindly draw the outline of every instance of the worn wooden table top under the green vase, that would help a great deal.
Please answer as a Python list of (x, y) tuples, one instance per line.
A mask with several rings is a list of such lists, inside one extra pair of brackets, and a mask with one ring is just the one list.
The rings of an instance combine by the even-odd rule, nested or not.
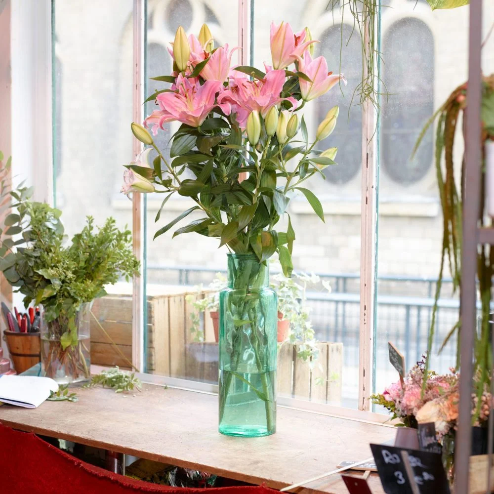
[[(141, 393), (79, 389), (79, 402), (45, 402), (35, 410), (4, 405), (0, 422), (141, 458), (194, 468), (275, 489), (315, 477), (341, 460), (371, 456), (369, 443), (394, 437), (392, 427), (278, 407), (276, 434), (232, 438), (217, 431), (216, 395), (144, 385)], [(379, 478), (369, 484), (383, 493)], [(339, 475), (295, 490), (347, 493)]]

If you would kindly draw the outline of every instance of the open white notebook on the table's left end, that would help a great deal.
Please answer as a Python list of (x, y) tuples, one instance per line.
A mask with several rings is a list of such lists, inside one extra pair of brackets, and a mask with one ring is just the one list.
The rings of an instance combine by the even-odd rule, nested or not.
[(36, 408), (57, 391), (58, 384), (49, 377), (35, 375), (0, 376), (0, 402), (24, 408)]

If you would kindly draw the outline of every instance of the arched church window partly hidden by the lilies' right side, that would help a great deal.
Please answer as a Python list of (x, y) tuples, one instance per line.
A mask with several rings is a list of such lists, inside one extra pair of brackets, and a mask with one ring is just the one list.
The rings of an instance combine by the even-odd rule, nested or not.
[[(327, 179), (334, 184), (342, 184), (351, 180), (361, 167), (362, 156), (362, 107), (353, 102), (350, 107), (355, 87), (360, 81), (362, 70), (361, 41), (359, 34), (352, 26), (343, 24), (331, 26), (321, 36), (321, 53), (328, 60), (328, 69), (339, 71), (340, 46), (341, 59), (344, 61), (342, 72), (348, 80), (348, 85), (335, 86), (318, 100), (316, 111), (317, 123), (321, 122), (330, 108), (339, 106), (338, 124), (334, 132), (321, 142), (320, 148), (337, 147), (336, 162), (338, 166), (328, 166), (324, 169)], [(353, 33), (352, 33), (353, 31)], [(350, 113), (348, 109), (350, 108)]]

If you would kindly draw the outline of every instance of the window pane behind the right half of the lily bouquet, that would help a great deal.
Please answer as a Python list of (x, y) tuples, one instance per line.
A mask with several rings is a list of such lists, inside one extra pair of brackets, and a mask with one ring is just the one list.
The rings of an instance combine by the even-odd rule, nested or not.
[[(310, 28), (313, 38), (320, 40), (314, 56), (324, 55), (328, 70), (334, 73), (340, 71), (341, 48), (341, 72), (348, 80), (347, 86), (333, 87), (321, 98), (306, 104), (301, 112), (305, 116), (309, 140), (312, 140), (329, 109), (339, 106), (334, 132), (318, 145), (321, 150), (337, 147), (335, 161), (338, 165), (324, 170), (326, 180), (317, 174), (305, 182), (323, 204), (325, 223), (314, 214), (303, 195), (290, 201), (288, 212), (297, 237), (293, 244), (295, 272), (314, 273), (319, 277), (319, 281), (303, 282), (294, 276), (297, 284), (307, 284), (304, 305), (310, 311), (308, 319), (315, 332), (319, 353), (313, 352), (312, 362), (304, 360), (305, 355), (300, 350), (305, 348), (305, 337), (292, 324), (290, 329), (294, 337), (296, 335), (297, 343), (295, 351), (288, 343), (280, 348), (279, 369), (287, 365), (290, 371), (278, 377), (278, 393), (357, 408), (362, 107), (355, 101), (350, 107), (350, 101), (360, 81), (361, 41), (348, 15), (341, 27), (339, 9), (328, 11), (327, 4), (311, 4), (308, 9), (307, 2), (285, 0), (256, 1), (254, 6), (254, 66), (262, 67), (263, 62), (271, 65), (270, 24), (271, 21), (277, 25), (285, 21), (294, 32), (305, 26)], [(274, 269), (275, 266), (272, 271)], [(329, 283), (330, 293), (323, 281)]]

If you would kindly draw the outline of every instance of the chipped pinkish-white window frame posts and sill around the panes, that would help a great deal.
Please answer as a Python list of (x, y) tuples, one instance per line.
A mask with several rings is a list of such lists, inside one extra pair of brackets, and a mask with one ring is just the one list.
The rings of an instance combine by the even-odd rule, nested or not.
[[(142, 122), (144, 101), (144, 29), (145, 29), (145, 1), (133, 0), (133, 120)], [(19, 66), (12, 65), (12, 80), (15, 84), (24, 80), (26, 91), (20, 88), (11, 88), (12, 102), (12, 154), (15, 156), (13, 173), (32, 177), (32, 182), (37, 184), (36, 194), (38, 200), (53, 203), (53, 157), (52, 157), (52, 40), (51, 40), (51, 0), (0, 0), (1, 6), (6, 3), (12, 9), (11, 25), (24, 27), (22, 38), (14, 40), (14, 32), (11, 33), (11, 60), (21, 60), (28, 55), (33, 57), (35, 63), (28, 66), (23, 62)], [(239, 8), (239, 63), (247, 64), (250, 32), (250, 0), (238, 0)], [(20, 24), (22, 22), (22, 24)], [(26, 23), (32, 23), (33, 30), (25, 29)], [(0, 19), (1, 25), (1, 19)], [(368, 32), (366, 32), (368, 35)], [(26, 42), (26, 37), (30, 42)], [(377, 37), (375, 37), (377, 39)], [(1, 40), (0, 40), (1, 41)], [(0, 49), (2, 45), (0, 44)], [(17, 72), (16, 72), (17, 71)], [(27, 81), (27, 82), (26, 82)], [(16, 94), (16, 91), (18, 94)], [(15, 108), (22, 107), (22, 97), (26, 97), (29, 91), (31, 97), (36, 95), (37, 104), (29, 111), (19, 112), (16, 115)], [(377, 228), (377, 138), (375, 124), (377, 115), (370, 101), (362, 105), (363, 111), (363, 140), (362, 140), (362, 201), (361, 201), (361, 267), (360, 267), (360, 348), (359, 348), (359, 402), (358, 410), (334, 407), (325, 404), (308, 402), (296, 398), (278, 398), (282, 406), (298, 409), (312, 410), (318, 413), (326, 413), (336, 416), (346, 416), (373, 422), (385, 422), (388, 415), (370, 412), (370, 395), (372, 393), (372, 351), (374, 334), (374, 308), (376, 287), (376, 228)], [(21, 115), (22, 114), (22, 115)], [(22, 125), (19, 124), (22, 118)], [(20, 135), (26, 127), (26, 121), (32, 126), (33, 131), (30, 142), (26, 143), (25, 136)], [(44, 124), (41, 125), (40, 122)], [(1, 128), (0, 118), (0, 128)], [(36, 132), (34, 132), (36, 127)], [(22, 139), (22, 141), (21, 141)], [(134, 139), (134, 138), (133, 138)], [(28, 139), (29, 140), (29, 139)], [(20, 143), (23, 147), (21, 148)], [(7, 147), (8, 149), (8, 147)], [(27, 151), (26, 151), (27, 149)], [(137, 154), (141, 151), (141, 143), (133, 140), (132, 151)], [(36, 150), (36, 156), (34, 156)], [(26, 153), (31, 153), (27, 156)], [(22, 159), (21, 159), (22, 157)], [(130, 159), (133, 157), (129, 157)], [(19, 163), (32, 164), (24, 169)], [(36, 164), (36, 166), (35, 166)], [(41, 185), (41, 186), (40, 186)], [(144, 227), (144, 200), (141, 194), (134, 193), (132, 200), (132, 234), (134, 254), (143, 261), (143, 227)], [(216, 385), (176, 379), (155, 374), (142, 374), (144, 369), (144, 288), (143, 277), (133, 279), (133, 303), (132, 303), (132, 363), (140, 372), (141, 378), (146, 382), (167, 384), (183, 387), (201, 392), (217, 393)], [(99, 368), (93, 366), (97, 371)]]

